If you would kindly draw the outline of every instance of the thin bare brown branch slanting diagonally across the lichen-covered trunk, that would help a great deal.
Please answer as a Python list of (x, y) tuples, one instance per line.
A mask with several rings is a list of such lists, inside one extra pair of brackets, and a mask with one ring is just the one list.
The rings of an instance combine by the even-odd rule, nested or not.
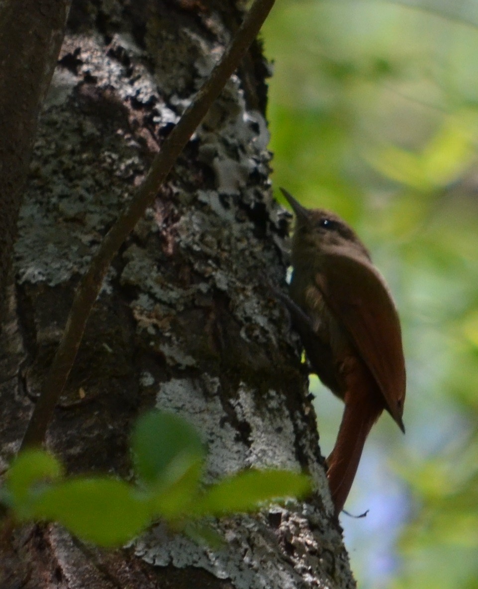
[(40, 445), (76, 358), (85, 325), (113, 257), (150, 206), (177, 157), (258, 35), (275, 0), (255, 0), (222, 59), (164, 141), (128, 208), (111, 227), (75, 294), (65, 332), (28, 423), (21, 449)]

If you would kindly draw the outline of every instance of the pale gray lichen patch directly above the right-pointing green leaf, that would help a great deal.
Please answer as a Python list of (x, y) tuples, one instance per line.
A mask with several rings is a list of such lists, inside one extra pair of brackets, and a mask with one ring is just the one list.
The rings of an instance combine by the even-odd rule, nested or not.
[[(302, 416), (296, 413), (291, 418), (276, 391), (269, 390), (258, 403), (255, 391), (240, 383), (236, 396), (228, 401), (233, 413), (225, 419), (220, 386), (219, 379), (209, 375), (199, 380), (172, 379), (161, 383), (156, 395), (157, 408), (181, 415), (202, 435), (207, 446), (206, 480), (249, 467), (301, 471), (304, 464), (295, 452), (299, 436), (312, 485), (332, 514), (325, 470), (317, 461), (317, 438), (308, 434)], [(248, 438), (239, 442), (238, 428), (243, 423), (248, 424)]]

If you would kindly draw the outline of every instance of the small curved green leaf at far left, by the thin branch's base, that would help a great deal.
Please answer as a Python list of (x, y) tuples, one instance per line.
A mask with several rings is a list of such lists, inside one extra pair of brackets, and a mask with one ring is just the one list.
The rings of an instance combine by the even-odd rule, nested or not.
[(27, 508), (25, 504), (28, 504), (35, 485), (47, 480), (57, 480), (61, 475), (61, 464), (51, 454), (38, 449), (21, 452), (7, 475), (6, 487), (12, 507), (19, 511)]

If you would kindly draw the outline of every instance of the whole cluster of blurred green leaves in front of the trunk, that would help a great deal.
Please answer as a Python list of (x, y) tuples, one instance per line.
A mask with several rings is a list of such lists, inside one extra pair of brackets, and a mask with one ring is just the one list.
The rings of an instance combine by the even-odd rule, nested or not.
[(203, 518), (257, 511), (272, 499), (310, 492), (306, 475), (283, 470), (248, 470), (202, 485), (206, 449), (196, 429), (173, 413), (143, 415), (131, 452), (135, 484), (107, 476), (65, 477), (47, 452), (21, 452), (0, 488), (6, 528), (12, 522), (55, 521), (82, 540), (114, 547), (161, 519), (195, 540), (217, 542)]

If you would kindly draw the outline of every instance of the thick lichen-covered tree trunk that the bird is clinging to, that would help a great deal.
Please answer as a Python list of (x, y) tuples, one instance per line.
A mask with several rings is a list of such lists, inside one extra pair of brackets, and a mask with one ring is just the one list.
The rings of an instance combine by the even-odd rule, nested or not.
[[(237, 27), (233, 2), (75, 2), (42, 112), (0, 365), (2, 461), (18, 448), (78, 276), (162, 138)], [(307, 469), (314, 497), (215, 524), (219, 551), (157, 525), (100, 551), (56, 525), (15, 531), (0, 586), (354, 587), (332, 517), (300, 346), (279, 282), (287, 219), (272, 200), (258, 44), (117, 256), (55, 412), (49, 447), (70, 472), (130, 476), (147, 408), (190, 419), (207, 478)]]

